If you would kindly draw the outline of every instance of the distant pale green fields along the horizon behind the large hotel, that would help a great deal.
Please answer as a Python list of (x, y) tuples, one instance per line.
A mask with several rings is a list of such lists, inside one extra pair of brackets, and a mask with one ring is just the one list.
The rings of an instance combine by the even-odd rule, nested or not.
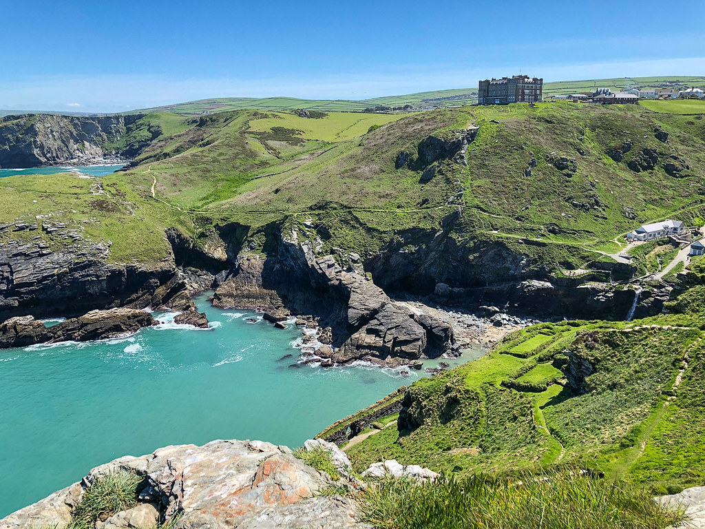
[[(501, 76), (501, 75), (500, 75)], [(642, 88), (670, 87), (705, 87), (705, 77), (701, 75), (661, 75), (657, 77), (591, 79), (578, 81), (556, 81), (544, 83), (544, 97), (552, 95), (573, 94), (576, 92), (594, 91), (596, 88), (623, 90), (625, 87), (639, 86)], [(428, 107), (446, 108), (460, 107), (464, 104), (477, 102), (477, 86), (472, 88), (455, 88), (451, 90), (433, 90), (415, 94), (372, 97), (352, 101), (349, 99), (297, 99), (295, 97), (219, 97), (215, 99), (200, 99), (188, 103), (177, 103), (139, 110), (172, 111), (178, 114), (210, 114), (241, 109), (261, 111), (283, 111), (293, 109), (309, 109), (324, 112), (359, 112), (364, 109), (374, 109), (378, 105), (390, 108), (402, 108), (411, 105), (414, 109)]]

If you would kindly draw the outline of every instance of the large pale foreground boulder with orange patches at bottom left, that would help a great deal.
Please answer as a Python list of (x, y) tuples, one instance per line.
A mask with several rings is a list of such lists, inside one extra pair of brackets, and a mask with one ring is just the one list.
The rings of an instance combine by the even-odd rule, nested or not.
[(316, 496), (333, 485), (352, 486), (345, 478), (334, 482), (286, 446), (236, 440), (167, 446), (147, 456), (116, 459), (3, 518), (0, 529), (65, 528), (86, 487), (116, 470), (144, 476), (145, 485), (137, 507), (112, 516), (103, 529), (110, 521), (145, 520), (155, 509), (160, 521), (176, 521), (176, 529), (369, 529), (357, 521), (353, 500)]

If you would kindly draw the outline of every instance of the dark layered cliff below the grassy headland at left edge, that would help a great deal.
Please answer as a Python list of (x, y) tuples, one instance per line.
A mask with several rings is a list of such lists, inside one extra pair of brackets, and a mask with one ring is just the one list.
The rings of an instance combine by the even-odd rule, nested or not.
[[(6, 229), (17, 230), (17, 224)], [(71, 317), (121, 306), (192, 308), (173, 263), (114, 265), (108, 262), (108, 245), (72, 230), (56, 236), (71, 242), (62, 240), (58, 250), (41, 240), (0, 243), (0, 320), (27, 314)]]

